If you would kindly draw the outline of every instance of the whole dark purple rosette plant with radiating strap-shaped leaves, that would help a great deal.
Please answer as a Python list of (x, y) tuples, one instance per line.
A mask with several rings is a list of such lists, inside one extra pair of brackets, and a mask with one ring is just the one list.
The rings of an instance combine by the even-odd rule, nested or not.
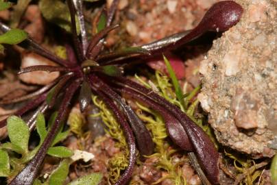
[[(74, 4), (75, 3), (75, 4)], [(152, 42), (141, 47), (131, 47), (122, 51), (104, 53), (105, 36), (118, 25), (112, 25), (112, 18), (117, 9), (118, 0), (112, 1), (110, 9), (106, 11), (106, 26), (99, 30), (97, 34), (88, 40), (85, 29), (84, 15), (82, 12), (82, 0), (67, 0), (71, 14), (71, 32), (73, 50), (67, 47), (68, 58), (63, 60), (53, 55), (32, 38), (27, 38), (21, 46), (27, 47), (40, 56), (56, 62), (59, 66), (29, 66), (21, 69), (19, 74), (30, 71), (60, 71), (61, 75), (51, 84), (40, 88), (36, 92), (18, 97), (16, 99), (6, 99), (1, 104), (16, 103), (32, 99), (15, 114), (21, 116), (37, 108), (36, 112), (27, 121), (29, 130), (34, 129), (34, 121), (38, 112), (51, 111), (56, 102), (60, 101), (58, 115), (51, 125), (51, 130), (47, 134), (43, 144), (32, 160), (18, 174), (11, 185), (33, 184), (41, 164), (47, 154), (47, 149), (51, 146), (53, 138), (56, 136), (62, 121), (66, 118), (67, 108), (75, 95), (79, 95), (81, 111), (86, 110), (91, 103), (92, 93), (101, 97), (108, 108), (112, 110), (115, 118), (121, 124), (125, 137), (128, 141), (129, 164), (127, 169), (119, 178), (116, 184), (126, 184), (132, 175), (134, 162), (136, 160), (136, 148), (139, 149), (141, 156), (152, 154), (154, 143), (152, 136), (146, 129), (143, 122), (135, 114), (134, 110), (126, 103), (121, 93), (144, 103), (150, 108), (159, 112), (165, 120), (167, 133), (174, 143), (185, 151), (195, 153), (200, 166), (206, 173), (206, 177), (212, 184), (219, 183), (219, 153), (208, 136), (189, 119), (177, 106), (169, 103), (153, 90), (145, 88), (132, 80), (123, 77), (123, 64), (133, 60), (145, 60), (154, 56), (160, 56), (166, 51), (178, 49), (186, 43), (202, 36), (205, 32), (224, 32), (235, 25), (243, 12), (240, 5), (234, 1), (221, 1), (215, 3), (197, 27), (190, 32), (175, 34), (169, 38)], [(80, 27), (80, 34), (77, 34), (76, 21)], [(0, 23), (3, 32), (8, 32), (10, 28)], [(5, 126), (5, 120), (1, 121), (0, 126)]]

